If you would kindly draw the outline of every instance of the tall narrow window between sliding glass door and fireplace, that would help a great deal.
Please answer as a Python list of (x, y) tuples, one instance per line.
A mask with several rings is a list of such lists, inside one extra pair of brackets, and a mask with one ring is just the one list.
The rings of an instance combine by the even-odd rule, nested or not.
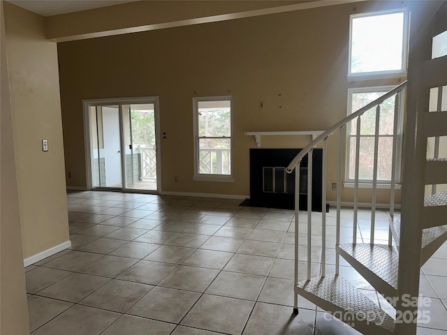
[(194, 180), (234, 181), (230, 96), (193, 98)]

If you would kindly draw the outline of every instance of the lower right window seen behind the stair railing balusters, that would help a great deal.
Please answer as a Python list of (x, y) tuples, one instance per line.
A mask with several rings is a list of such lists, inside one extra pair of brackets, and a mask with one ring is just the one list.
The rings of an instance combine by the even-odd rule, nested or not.
[[(393, 87), (369, 87), (364, 89), (350, 89), (349, 113), (356, 112), (361, 107), (383, 96)], [(402, 156), (402, 124), (403, 124), (403, 94), (399, 101), (399, 114), (397, 115), (397, 165), (395, 180), (400, 180), (400, 160)], [(377, 182), (389, 184), (391, 180), (391, 164), (393, 154), (393, 133), (395, 120), (395, 96), (388, 98), (381, 104), (379, 123), (379, 156), (377, 167)], [(376, 107), (368, 110), (360, 117), (360, 156), (359, 181), (371, 183), (374, 163), (374, 133), (376, 127)], [(347, 126), (346, 149), (346, 181), (353, 182), (356, 172), (356, 140), (357, 120), (354, 119)]]

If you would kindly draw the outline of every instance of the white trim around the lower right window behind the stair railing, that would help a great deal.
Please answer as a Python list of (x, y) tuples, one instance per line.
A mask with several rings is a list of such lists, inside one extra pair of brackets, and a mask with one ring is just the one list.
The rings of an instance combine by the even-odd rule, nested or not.
[[(388, 86), (376, 86), (376, 87), (358, 87), (355, 89), (348, 89), (348, 115), (352, 112), (352, 94), (353, 93), (367, 93), (367, 92), (380, 92), (383, 91), (383, 94), (390, 91), (391, 89), (394, 89), (395, 86), (388, 85)], [(397, 119), (397, 160), (396, 160), (396, 171), (395, 171), (395, 183), (396, 183), (396, 189), (398, 189), (397, 184), (400, 183), (401, 179), (401, 171), (402, 171), (402, 146), (403, 146), (403, 129), (404, 129), (404, 103), (405, 103), (405, 90), (402, 91), (402, 94), (400, 95), (399, 99), (399, 112), (400, 117)], [(356, 111), (353, 111), (356, 112)], [(346, 125), (346, 155), (345, 155), (345, 162), (344, 162), (344, 187), (350, 188), (351, 184), (355, 182), (354, 179), (349, 178), (349, 158), (350, 158), (350, 150), (349, 150), (349, 137), (351, 137), (349, 134), (351, 134), (351, 122)], [(356, 137), (354, 135), (353, 137)], [(359, 181), (359, 187), (360, 188), (369, 188), (367, 186), (368, 184), (372, 184), (372, 179), (358, 179)], [(378, 188), (388, 188), (386, 186), (391, 185), (390, 180), (382, 180), (377, 179), (377, 185)], [(381, 185), (379, 187), (379, 185)]]

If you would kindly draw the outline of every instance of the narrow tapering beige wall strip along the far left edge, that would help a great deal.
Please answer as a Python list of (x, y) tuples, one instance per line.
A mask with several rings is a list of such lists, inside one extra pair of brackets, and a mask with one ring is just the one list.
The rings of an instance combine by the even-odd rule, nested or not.
[(28, 307), (20, 237), (3, 1), (0, 1), (0, 24), (0, 334), (26, 335), (29, 334)]

